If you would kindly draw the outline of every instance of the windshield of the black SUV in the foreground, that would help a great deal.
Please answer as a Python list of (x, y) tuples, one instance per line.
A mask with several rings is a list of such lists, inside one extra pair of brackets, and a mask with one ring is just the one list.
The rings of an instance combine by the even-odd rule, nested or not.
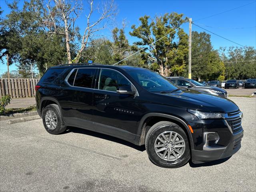
[(169, 80), (150, 70), (128, 70), (127, 73), (150, 92), (172, 92), (178, 89)]

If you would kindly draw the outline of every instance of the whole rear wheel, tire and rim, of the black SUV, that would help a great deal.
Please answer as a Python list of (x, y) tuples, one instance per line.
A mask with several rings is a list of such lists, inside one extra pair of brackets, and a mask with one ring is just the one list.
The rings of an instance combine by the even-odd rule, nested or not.
[(58, 105), (50, 104), (44, 108), (42, 113), (44, 128), (50, 134), (60, 134), (66, 130), (66, 125), (62, 121)]

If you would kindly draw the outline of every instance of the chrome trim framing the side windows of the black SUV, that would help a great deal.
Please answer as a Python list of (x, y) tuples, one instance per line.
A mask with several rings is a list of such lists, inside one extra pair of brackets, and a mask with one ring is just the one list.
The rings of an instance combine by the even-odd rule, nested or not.
[[(134, 96), (139, 96), (139, 92), (138, 92), (138, 90), (137, 90), (137, 88), (134, 86), (134, 84), (132, 84), (132, 82), (124, 75), (124, 74), (122, 74), (120, 71), (118, 71), (118, 70), (115, 70), (115, 69), (110, 69), (110, 68), (100, 68), (100, 67), (79, 67), (79, 68), (73, 68), (70, 72), (69, 72), (69, 74), (66, 76), (66, 78), (65, 78), (65, 82), (68, 84), (68, 86), (70, 86), (70, 87), (78, 87), (78, 86), (74, 86), (74, 82), (75, 82), (75, 80), (76, 80), (76, 75), (75, 75), (75, 78), (74, 78), (74, 82), (73, 82), (73, 85), (70, 85), (69, 83), (68, 83), (68, 78), (70, 77), (70, 75), (72, 74), (72, 72), (74, 71), (74, 70), (76, 70), (76, 69), (99, 69), (100, 70), (100, 74), (101, 74), (101, 70), (102, 69), (107, 69), (107, 70), (114, 70), (114, 71), (116, 71), (116, 72), (118, 72), (118, 73), (120, 73), (122, 76), (124, 76), (124, 78), (126, 78), (126, 80), (128, 80), (129, 82), (130, 82), (130, 84), (135, 88), (135, 90), (136, 90), (136, 94), (134, 95)], [(77, 74), (77, 72), (78, 72), (78, 70), (76, 71), (76, 74)], [(100, 79), (100, 74), (99, 74), (99, 79)], [(97, 75), (97, 74), (96, 74)], [(98, 87), (99, 87), (99, 85), (98, 85)], [(107, 90), (102, 90), (102, 89), (96, 89), (96, 88), (86, 88), (86, 87), (78, 87), (78, 88), (85, 88), (85, 89), (92, 89), (92, 90), (100, 90), (100, 91), (106, 91), (106, 92), (112, 92), (112, 93), (117, 93), (116, 91), (107, 91)], [(118, 93), (117, 93), (118, 94)]]

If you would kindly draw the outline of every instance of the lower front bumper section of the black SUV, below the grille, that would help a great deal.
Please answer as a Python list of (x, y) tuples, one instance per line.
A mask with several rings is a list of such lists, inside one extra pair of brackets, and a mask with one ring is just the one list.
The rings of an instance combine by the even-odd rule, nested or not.
[(234, 155), (241, 148), (241, 140), (244, 136), (244, 131), (241, 130), (236, 134), (232, 134), (232, 139), (230, 140), (228, 146), (222, 148), (209, 148), (200, 150), (191, 150), (192, 162), (203, 163), (212, 160), (218, 160), (230, 157)]

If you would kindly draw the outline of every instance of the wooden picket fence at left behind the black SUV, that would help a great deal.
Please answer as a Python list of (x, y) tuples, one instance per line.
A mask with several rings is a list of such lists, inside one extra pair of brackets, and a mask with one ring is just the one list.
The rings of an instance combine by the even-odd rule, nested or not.
[(0, 78), (0, 98), (10, 95), (12, 98), (34, 97), (36, 92), (34, 87), (39, 79), (14, 79), (10, 82), (6, 78)]

